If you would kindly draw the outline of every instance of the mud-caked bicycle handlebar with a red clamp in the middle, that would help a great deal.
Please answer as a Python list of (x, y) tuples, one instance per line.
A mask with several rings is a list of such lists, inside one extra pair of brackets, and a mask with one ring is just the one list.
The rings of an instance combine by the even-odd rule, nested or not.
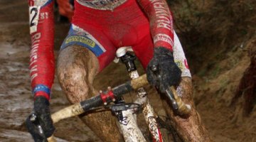
[[(62, 119), (67, 119), (69, 117), (82, 114), (86, 111), (89, 111), (90, 109), (92, 109), (94, 107), (100, 107), (100, 106), (102, 106), (102, 104), (110, 103), (110, 102), (112, 102), (112, 99), (120, 98), (120, 97), (122, 97), (122, 95), (127, 94), (128, 92), (131, 92), (132, 90), (136, 90), (139, 87), (143, 87), (146, 84), (149, 84), (149, 82), (147, 82), (146, 74), (144, 74), (144, 75), (138, 77), (137, 79), (125, 82), (124, 84), (114, 87), (113, 89), (111, 89), (107, 92), (100, 93), (95, 97), (86, 99), (85, 101), (82, 101), (82, 102), (73, 104), (70, 107), (61, 109), (60, 111), (57, 111), (51, 115), (51, 117), (53, 119), (53, 124), (57, 123), (58, 121), (60, 121)], [(170, 88), (171, 88), (170, 92), (172, 92), (172, 95), (174, 96), (174, 99), (177, 102), (178, 108), (176, 108), (176, 110), (178, 111), (178, 113), (179, 114), (188, 114), (191, 110), (190, 105), (184, 104), (181, 101), (181, 98), (178, 97), (178, 95), (176, 94), (176, 90), (174, 89), (174, 87), (170, 87)], [(53, 136), (51, 136), (50, 138), (47, 138), (47, 140), (49, 142), (53, 142), (54, 138), (53, 138)]]

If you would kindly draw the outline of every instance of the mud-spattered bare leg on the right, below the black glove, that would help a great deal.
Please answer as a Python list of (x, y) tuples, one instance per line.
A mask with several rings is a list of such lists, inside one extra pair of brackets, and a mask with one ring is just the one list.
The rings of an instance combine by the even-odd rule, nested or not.
[(177, 129), (179, 136), (185, 142), (208, 142), (212, 141), (210, 136), (208, 135), (208, 131), (205, 127), (201, 124), (201, 119), (196, 111), (195, 104), (193, 103), (192, 97), (192, 84), (190, 77), (183, 77), (181, 81), (181, 88), (182, 88), (182, 100), (186, 104), (190, 104), (191, 114), (182, 118), (174, 114), (171, 107), (169, 106), (166, 99), (163, 100), (164, 108), (167, 111), (167, 114), (173, 121), (174, 128)]

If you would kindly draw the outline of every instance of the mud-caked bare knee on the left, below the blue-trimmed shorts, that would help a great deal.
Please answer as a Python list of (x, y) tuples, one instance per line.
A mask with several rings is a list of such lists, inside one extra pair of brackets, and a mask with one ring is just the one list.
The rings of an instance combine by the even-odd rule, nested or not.
[(80, 46), (65, 48), (58, 56), (58, 80), (71, 103), (90, 97), (93, 77), (97, 73), (97, 65), (92, 65), (91, 56)]

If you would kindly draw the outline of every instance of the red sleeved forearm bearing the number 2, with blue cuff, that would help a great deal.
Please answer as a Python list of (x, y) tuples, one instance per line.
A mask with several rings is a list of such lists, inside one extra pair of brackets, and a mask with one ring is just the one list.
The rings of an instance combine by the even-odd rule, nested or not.
[(50, 99), (54, 78), (53, 1), (28, 0), (31, 31), (30, 76), (34, 97)]

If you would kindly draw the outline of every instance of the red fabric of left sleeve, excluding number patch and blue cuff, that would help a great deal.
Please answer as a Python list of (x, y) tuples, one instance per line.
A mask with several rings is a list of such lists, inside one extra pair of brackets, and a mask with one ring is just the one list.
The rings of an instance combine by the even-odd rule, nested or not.
[[(28, 1), (29, 6), (33, 6), (33, 0)], [(41, 7), (39, 11), (37, 31), (31, 33), (31, 87), (37, 84), (44, 84), (49, 89), (52, 87), (54, 78), (54, 54), (53, 54), (53, 1)], [(44, 15), (44, 16), (42, 16)], [(47, 16), (46, 16), (47, 15)], [(38, 96), (38, 93), (35, 94)]]

